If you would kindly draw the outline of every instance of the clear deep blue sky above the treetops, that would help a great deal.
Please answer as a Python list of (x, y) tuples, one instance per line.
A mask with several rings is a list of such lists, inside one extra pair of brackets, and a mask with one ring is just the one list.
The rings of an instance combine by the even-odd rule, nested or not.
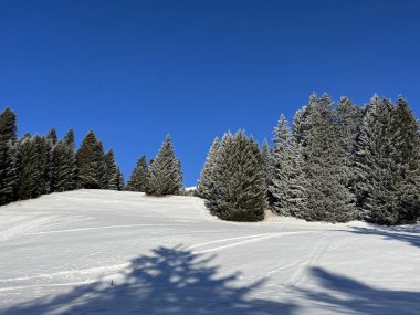
[(196, 183), (214, 136), (262, 141), (309, 94), (420, 114), (420, 1), (0, 0), (0, 109), (19, 133), (90, 129), (126, 177), (170, 133)]

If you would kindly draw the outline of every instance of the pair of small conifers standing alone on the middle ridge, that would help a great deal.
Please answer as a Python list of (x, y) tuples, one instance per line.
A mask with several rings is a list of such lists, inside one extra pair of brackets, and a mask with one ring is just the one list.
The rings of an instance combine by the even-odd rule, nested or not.
[(169, 135), (149, 165), (146, 156), (138, 159), (125, 190), (153, 196), (178, 195), (182, 191), (181, 161), (175, 156)]

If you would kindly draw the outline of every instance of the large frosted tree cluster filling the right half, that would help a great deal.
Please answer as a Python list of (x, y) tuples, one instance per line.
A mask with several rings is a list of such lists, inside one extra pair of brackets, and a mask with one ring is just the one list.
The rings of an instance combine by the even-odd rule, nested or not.
[(243, 132), (216, 139), (197, 192), (225, 220), (261, 220), (271, 208), (308, 221), (416, 222), (419, 126), (401, 96), (356, 106), (313, 94), (292, 128), (280, 117), (273, 146), (264, 141), (259, 150)]

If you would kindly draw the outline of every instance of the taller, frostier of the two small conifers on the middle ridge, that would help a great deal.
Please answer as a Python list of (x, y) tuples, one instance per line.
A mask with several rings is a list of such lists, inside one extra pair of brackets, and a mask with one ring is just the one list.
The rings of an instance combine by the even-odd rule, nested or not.
[(175, 149), (168, 135), (159, 154), (148, 167), (146, 193), (154, 196), (176, 195), (181, 188), (180, 161), (175, 157)]

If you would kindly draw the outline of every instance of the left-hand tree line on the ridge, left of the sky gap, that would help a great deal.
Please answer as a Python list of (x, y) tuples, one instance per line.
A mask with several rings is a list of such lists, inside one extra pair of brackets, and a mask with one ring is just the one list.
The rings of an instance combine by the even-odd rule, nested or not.
[(143, 156), (127, 185), (115, 162), (113, 149), (88, 132), (77, 151), (74, 132), (57, 139), (55, 128), (45, 136), (24, 134), (18, 138), (17, 115), (6, 108), (0, 115), (0, 206), (41, 195), (73, 189), (144, 191), (175, 195), (182, 188), (180, 160), (167, 136), (159, 154), (147, 162)]

